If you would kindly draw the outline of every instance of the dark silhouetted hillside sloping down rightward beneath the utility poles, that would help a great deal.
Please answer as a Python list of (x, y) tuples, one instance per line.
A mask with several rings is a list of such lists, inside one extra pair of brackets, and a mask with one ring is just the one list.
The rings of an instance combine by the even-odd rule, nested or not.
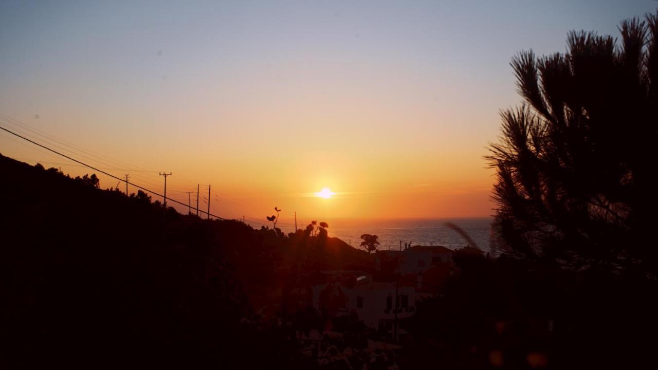
[(0, 171), (11, 367), (290, 366), (297, 352), (255, 309), (282, 309), (288, 271), (371, 261), (336, 238), (181, 215), (141, 191), (101, 190), (95, 175), (1, 155)]

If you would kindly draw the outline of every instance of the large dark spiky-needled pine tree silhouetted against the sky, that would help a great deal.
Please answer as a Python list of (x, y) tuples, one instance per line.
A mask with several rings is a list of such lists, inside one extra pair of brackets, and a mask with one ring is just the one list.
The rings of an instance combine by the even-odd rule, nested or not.
[[(658, 15), (610, 36), (570, 32), (566, 54), (513, 58), (524, 104), (501, 113), (494, 242), (572, 268), (656, 271)], [(655, 242), (654, 242), (655, 244)]]

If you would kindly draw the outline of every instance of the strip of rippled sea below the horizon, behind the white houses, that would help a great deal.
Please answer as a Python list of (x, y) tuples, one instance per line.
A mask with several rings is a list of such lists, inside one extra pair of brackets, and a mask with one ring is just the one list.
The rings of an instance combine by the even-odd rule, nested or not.
[(329, 223), (329, 236), (351, 242), (353, 247), (361, 243), (361, 234), (376, 234), (379, 236), (382, 250), (397, 250), (402, 245), (411, 242), (413, 245), (440, 245), (447, 248), (461, 248), (467, 242), (445, 226), (451, 222), (463, 228), (480, 248), (489, 250), (491, 232), (491, 217), (468, 219), (403, 219), (403, 220), (334, 220)]

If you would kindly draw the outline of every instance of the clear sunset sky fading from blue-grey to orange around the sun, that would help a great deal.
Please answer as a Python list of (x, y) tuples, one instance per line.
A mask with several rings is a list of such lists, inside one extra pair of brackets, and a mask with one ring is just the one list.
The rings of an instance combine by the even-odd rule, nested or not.
[[(265, 223), (275, 205), (283, 226), (292, 211), (300, 223), (486, 216), (493, 171), (482, 156), (499, 110), (520, 101), (511, 57), (565, 51), (573, 29), (618, 36), (620, 20), (657, 7), (2, 1), (0, 113), (147, 188), (161, 191), (157, 172), (171, 171), (172, 198), (212, 184), (222, 217)], [(0, 133), (0, 153), (90, 172), (14, 140)], [(309, 196), (324, 187), (338, 194)]]

